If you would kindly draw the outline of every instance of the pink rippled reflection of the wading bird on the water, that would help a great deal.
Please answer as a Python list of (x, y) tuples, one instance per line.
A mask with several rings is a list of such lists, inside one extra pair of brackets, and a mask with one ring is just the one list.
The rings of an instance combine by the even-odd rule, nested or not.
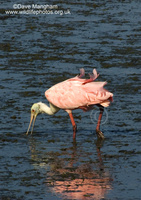
[(96, 155), (94, 149), (86, 152), (74, 144), (58, 152), (51, 150), (46, 157), (49, 165), (47, 187), (63, 199), (100, 200), (111, 189), (112, 179), (104, 169), (98, 145)]

